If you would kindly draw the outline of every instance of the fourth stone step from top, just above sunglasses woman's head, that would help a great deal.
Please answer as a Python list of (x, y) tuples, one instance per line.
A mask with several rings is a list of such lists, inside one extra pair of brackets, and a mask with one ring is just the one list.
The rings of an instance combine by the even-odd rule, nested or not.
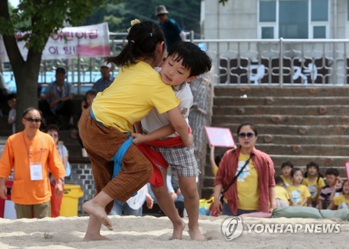
[(281, 124), (288, 126), (347, 126), (349, 123), (348, 116), (336, 116), (336, 115), (324, 115), (324, 116), (312, 116), (312, 115), (220, 115), (212, 117), (212, 126), (226, 127), (230, 123), (242, 123), (244, 121), (251, 121), (258, 126), (265, 124)]

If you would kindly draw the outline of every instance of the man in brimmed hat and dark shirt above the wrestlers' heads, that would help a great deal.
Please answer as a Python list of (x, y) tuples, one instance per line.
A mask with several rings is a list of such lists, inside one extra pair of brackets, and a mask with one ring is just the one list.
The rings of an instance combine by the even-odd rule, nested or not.
[(156, 17), (161, 22), (161, 29), (165, 33), (166, 38), (166, 49), (170, 50), (173, 43), (180, 40), (186, 40), (186, 33), (179, 26), (179, 24), (172, 18), (168, 18), (168, 10), (163, 5), (156, 7)]

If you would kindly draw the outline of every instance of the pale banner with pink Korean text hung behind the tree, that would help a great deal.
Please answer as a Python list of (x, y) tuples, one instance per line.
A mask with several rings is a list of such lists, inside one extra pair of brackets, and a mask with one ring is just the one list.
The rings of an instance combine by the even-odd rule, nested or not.
[[(24, 33), (17, 33), (17, 38), (21, 38)], [(20, 52), (27, 59), (28, 50), (24, 47), (24, 42), (18, 42)], [(8, 56), (0, 39), (1, 61), (7, 62)], [(101, 24), (65, 27), (57, 33), (52, 33), (47, 40), (43, 50), (43, 60), (69, 59), (77, 57), (109, 56), (109, 29), (107, 22)]]

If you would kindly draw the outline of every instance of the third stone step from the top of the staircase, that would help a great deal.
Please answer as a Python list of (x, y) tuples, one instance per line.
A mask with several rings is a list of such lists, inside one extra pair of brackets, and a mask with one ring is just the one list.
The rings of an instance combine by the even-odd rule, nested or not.
[[(343, 115), (349, 116), (349, 105), (304, 105), (304, 106), (258, 106), (248, 105), (244, 107), (223, 105), (214, 106), (213, 112), (215, 116), (219, 115), (285, 115), (288, 116), (323, 116), (323, 115)], [(291, 117), (290, 117), (291, 118)]]

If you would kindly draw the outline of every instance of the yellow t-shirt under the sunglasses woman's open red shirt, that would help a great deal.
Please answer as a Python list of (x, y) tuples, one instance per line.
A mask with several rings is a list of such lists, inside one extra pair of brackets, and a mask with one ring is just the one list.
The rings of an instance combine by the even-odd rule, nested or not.
[[(249, 155), (240, 153), (237, 173), (245, 165)], [(242, 210), (258, 210), (260, 194), (258, 192), (258, 174), (252, 160), (237, 178), (237, 208)]]

